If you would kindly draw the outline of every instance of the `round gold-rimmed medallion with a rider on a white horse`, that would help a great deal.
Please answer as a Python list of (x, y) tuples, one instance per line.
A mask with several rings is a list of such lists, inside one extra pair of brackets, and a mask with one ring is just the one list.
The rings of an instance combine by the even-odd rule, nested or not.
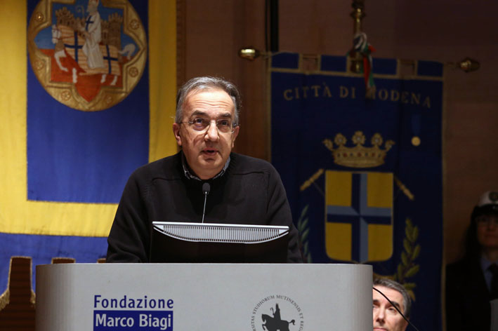
[(41, 85), (83, 111), (124, 100), (147, 61), (145, 28), (128, 0), (40, 0), (27, 39)]

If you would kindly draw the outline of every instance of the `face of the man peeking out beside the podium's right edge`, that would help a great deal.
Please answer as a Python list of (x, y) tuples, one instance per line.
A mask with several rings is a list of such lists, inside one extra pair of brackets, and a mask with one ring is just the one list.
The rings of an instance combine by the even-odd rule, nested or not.
[[(400, 292), (384, 286), (375, 285), (375, 288), (384, 293), (400, 311), (405, 312), (403, 297)], [(374, 302), (374, 331), (402, 331), (408, 323), (400, 313), (376, 290), (373, 291)]]

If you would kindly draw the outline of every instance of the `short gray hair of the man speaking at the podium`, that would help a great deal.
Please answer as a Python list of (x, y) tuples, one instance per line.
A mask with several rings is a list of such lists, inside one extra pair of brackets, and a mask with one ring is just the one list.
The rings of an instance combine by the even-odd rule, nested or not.
[(237, 86), (230, 81), (222, 79), (220, 77), (195, 77), (190, 79), (187, 83), (178, 90), (176, 95), (176, 115), (175, 122), (180, 123), (183, 119), (183, 103), (188, 93), (198, 90), (224, 90), (232, 98), (235, 112), (234, 124), (239, 124), (239, 112), (240, 112), (240, 93), (237, 90)]

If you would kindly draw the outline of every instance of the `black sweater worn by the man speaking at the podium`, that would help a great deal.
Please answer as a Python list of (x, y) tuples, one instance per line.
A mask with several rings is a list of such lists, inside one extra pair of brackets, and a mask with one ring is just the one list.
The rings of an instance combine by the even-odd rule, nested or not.
[(185, 177), (181, 152), (131, 175), (107, 238), (107, 262), (149, 262), (152, 221), (201, 222), (204, 182), (211, 184), (204, 222), (287, 225), (287, 262), (301, 262), (298, 233), (273, 165), (232, 153), (223, 176), (200, 182)]

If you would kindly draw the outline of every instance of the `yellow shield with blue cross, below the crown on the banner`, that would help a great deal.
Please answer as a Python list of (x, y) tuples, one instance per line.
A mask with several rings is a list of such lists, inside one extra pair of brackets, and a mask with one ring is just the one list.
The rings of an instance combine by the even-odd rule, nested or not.
[(393, 174), (325, 171), (325, 250), (331, 259), (393, 255)]

